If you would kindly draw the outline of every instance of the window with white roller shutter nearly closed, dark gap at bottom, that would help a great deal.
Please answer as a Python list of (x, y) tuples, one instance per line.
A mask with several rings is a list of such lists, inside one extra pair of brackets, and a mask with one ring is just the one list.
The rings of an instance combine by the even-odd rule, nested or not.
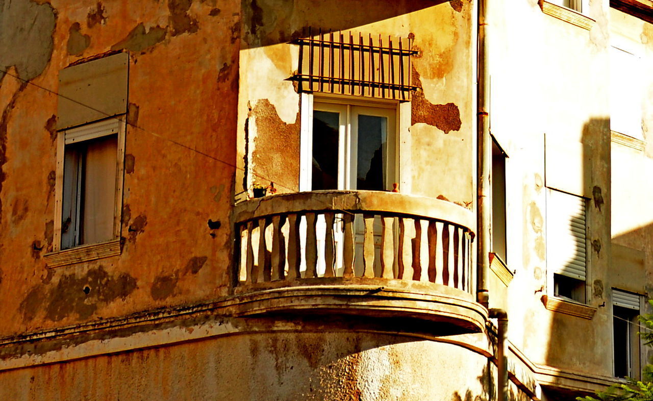
[(585, 304), (588, 280), (587, 199), (547, 187), (549, 294)]

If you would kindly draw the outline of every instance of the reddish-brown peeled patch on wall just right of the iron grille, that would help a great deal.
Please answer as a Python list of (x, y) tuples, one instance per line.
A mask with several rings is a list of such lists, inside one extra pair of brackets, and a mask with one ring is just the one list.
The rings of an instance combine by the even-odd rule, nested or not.
[(413, 94), (411, 102), (411, 125), (425, 123), (441, 129), (445, 134), (451, 131), (460, 131), (460, 110), (454, 103), (433, 104), (426, 100), (422, 91), (422, 82), (419, 72), (413, 67), (413, 85), (419, 89)]

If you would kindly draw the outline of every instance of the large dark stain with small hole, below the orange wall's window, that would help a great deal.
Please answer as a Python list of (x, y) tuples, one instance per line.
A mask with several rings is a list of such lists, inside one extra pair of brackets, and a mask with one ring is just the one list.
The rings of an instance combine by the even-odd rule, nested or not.
[(136, 279), (129, 274), (112, 275), (99, 266), (79, 276), (65, 274), (52, 285), (36, 285), (20, 303), (20, 312), (24, 321), (34, 319), (43, 309), (46, 319), (52, 321), (71, 316), (88, 319), (97, 308), (124, 300), (136, 287)]

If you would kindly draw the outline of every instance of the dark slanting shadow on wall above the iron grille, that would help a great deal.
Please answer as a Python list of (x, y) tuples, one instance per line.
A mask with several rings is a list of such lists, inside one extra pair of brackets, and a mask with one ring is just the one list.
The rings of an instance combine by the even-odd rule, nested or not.
[[(274, 2), (244, 0), (242, 48), (289, 42), (306, 35), (308, 27), (333, 31), (353, 29), (443, 3), (449, 3), (446, 6), (456, 12), (462, 11), (462, 0), (402, 0), (391, 1), (383, 7), (377, 7), (374, 0), (346, 3), (324, 0), (320, 7), (314, 7), (315, 3), (310, 1), (295, 1), (293, 7), (275, 7)], [(347, 9), (343, 10), (343, 7)], [(332, 10), (341, 10), (342, 14), (334, 18)], [(298, 22), (304, 25), (297, 25)]]

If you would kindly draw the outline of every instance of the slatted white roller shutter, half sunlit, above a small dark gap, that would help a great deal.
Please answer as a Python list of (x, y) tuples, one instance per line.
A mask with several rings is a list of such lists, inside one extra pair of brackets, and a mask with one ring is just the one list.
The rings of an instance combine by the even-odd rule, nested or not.
[(585, 200), (549, 189), (547, 264), (554, 273), (586, 279)]

